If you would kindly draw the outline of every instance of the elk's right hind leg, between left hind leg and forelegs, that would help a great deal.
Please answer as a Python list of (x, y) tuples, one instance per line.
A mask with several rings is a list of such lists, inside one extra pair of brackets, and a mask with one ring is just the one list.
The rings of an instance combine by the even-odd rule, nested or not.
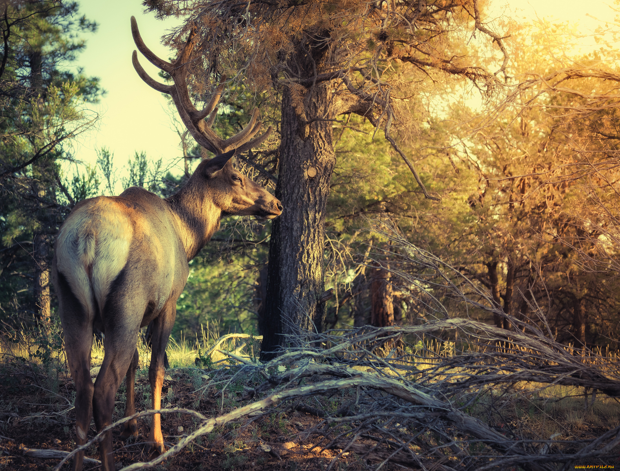
[[(118, 281), (119, 279), (120, 281)], [(139, 326), (146, 305), (141, 293), (127, 293), (122, 289), (114, 289), (117, 281), (118, 284), (122, 283), (122, 276), (119, 276), (112, 285), (110, 292), (115, 294), (105, 302), (102, 312), (105, 356), (95, 381), (95, 391), (92, 398), (93, 414), (98, 432), (112, 423), (116, 392), (123, 376), (128, 373), (132, 362), (135, 360)], [(101, 437), (99, 454), (102, 470), (113, 471), (111, 430)]]

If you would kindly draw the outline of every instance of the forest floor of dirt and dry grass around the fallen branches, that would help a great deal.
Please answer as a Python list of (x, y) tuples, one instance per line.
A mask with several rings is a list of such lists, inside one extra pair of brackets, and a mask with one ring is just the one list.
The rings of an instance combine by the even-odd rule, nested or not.
[[(141, 351), (141, 367), (136, 374), (136, 410), (151, 408), (151, 387), (148, 382), (148, 356)], [(228, 413), (240, 405), (237, 393), (247, 382), (237, 380), (228, 384), (210, 385), (208, 372), (193, 365), (197, 351), (190, 348), (169, 349), (172, 369), (166, 370), (162, 388), (162, 407), (179, 407), (197, 410), (207, 417)], [(69, 452), (74, 447), (75, 387), (73, 380), (61, 367), (43, 373), (40, 362), (27, 361), (26, 355), (4, 354), (0, 361), (0, 470), (52, 470), (60, 459), (40, 459), (26, 455), (25, 449), (56, 450)], [(9, 358), (12, 358), (9, 360)], [(60, 357), (59, 357), (60, 358)], [(102, 350), (94, 349), (93, 365), (103, 359)], [(58, 363), (61, 366), (61, 363)], [(92, 375), (96, 370), (92, 370)], [(548, 386), (548, 385), (547, 385)], [(573, 441), (576, 452), (580, 442), (595, 439), (610, 429), (620, 426), (620, 402), (601, 397), (584, 403), (583, 388), (551, 385), (528, 385), (534, 393), (515, 395), (518, 400), (506, 397), (505, 405), (489, 416), (489, 407), (474, 403), (470, 415), (489, 423), (496, 430), (520, 429), (523, 436), (561, 437)], [(515, 385), (518, 388), (518, 385)], [(125, 408), (126, 385), (123, 379), (118, 389), (113, 420), (122, 418)], [(325, 411), (335, 411), (345, 398), (309, 398), (308, 404)], [(312, 401), (312, 402), (311, 402)], [(319, 401), (319, 402), (316, 402)], [(502, 402), (502, 401), (500, 401)], [(312, 409), (308, 407), (306, 409)], [(185, 449), (156, 469), (158, 470), (321, 470), (334, 471), (368, 469), (365, 461), (353, 452), (340, 449), (322, 449), (314, 435), (306, 437), (309, 428), (322, 419), (301, 411), (272, 413), (254, 418), (244, 418), (212, 433), (198, 437)], [(120, 441), (120, 429), (113, 431), (114, 459), (117, 469), (136, 462), (149, 460), (148, 440), (151, 418), (138, 419), (139, 436), (135, 442)], [(181, 413), (162, 415), (162, 433), (166, 447), (172, 447), (183, 436), (198, 427), (197, 419)], [(182, 429), (181, 429), (182, 427)], [(89, 439), (95, 436), (94, 425)], [(560, 439), (560, 438), (558, 438)], [(376, 443), (358, 439), (358, 444), (370, 449)], [(325, 444), (325, 442), (322, 442)], [(473, 444), (470, 444), (470, 449)], [(383, 450), (384, 456), (390, 452)], [(474, 450), (475, 452), (475, 450)], [(99, 459), (99, 450), (91, 446), (86, 456)], [(369, 455), (370, 456), (370, 455)], [(366, 457), (368, 458), (368, 457)], [(335, 459), (335, 460), (334, 460)], [(380, 464), (374, 455), (366, 463)], [(382, 470), (410, 469), (407, 463), (386, 462)], [(588, 465), (591, 463), (580, 463)], [(602, 464), (596, 462), (596, 464)], [(620, 467), (620, 457), (605, 463)], [(69, 464), (63, 469), (69, 469)], [(84, 464), (84, 470), (99, 469), (98, 465)], [(417, 469), (413, 464), (411, 469)], [(517, 468), (507, 471), (517, 471)]]

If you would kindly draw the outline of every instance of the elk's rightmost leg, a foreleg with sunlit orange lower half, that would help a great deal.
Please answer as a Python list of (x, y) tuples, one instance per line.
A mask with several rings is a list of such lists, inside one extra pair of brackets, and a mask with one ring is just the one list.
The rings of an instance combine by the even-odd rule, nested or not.
[[(166, 303), (159, 316), (153, 321), (153, 336), (151, 337), (153, 350), (151, 351), (151, 364), (149, 366), (153, 409), (161, 409), (161, 387), (164, 384), (164, 355), (166, 354), (166, 345), (174, 325), (176, 313), (176, 299), (174, 299), (172, 302)], [(165, 451), (164, 437), (161, 433), (161, 415), (159, 414), (153, 416), (149, 442), (154, 455), (162, 454)]]

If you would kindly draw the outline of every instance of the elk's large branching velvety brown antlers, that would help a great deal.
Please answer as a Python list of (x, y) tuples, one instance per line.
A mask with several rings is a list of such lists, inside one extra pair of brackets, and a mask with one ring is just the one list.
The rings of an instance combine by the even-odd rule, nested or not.
[[(143, 53), (144, 57), (146, 57), (149, 62), (157, 68), (160, 68), (164, 72), (170, 74), (172, 80), (174, 81), (174, 85), (166, 85), (153, 80), (138, 62), (138, 53), (134, 51), (131, 56), (131, 61), (133, 62), (133, 67), (136, 69), (136, 72), (140, 78), (146, 82), (146, 84), (153, 87), (157, 91), (167, 93), (172, 97), (177, 110), (179, 110), (181, 120), (184, 122), (185, 126), (187, 126), (187, 129), (197, 143), (203, 146), (206, 150), (217, 155), (236, 149), (237, 154), (239, 154), (243, 151), (251, 149), (254, 146), (260, 145), (260, 143), (262, 143), (265, 139), (267, 139), (268, 135), (270, 135), (272, 131), (271, 126), (263, 135), (252, 139), (254, 135), (259, 132), (260, 125), (262, 124), (262, 121), (257, 121), (260, 114), (258, 108), (255, 108), (252, 112), (252, 118), (250, 119), (250, 122), (247, 123), (246, 127), (244, 127), (241, 132), (229, 137), (225, 141), (221, 140), (219, 136), (211, 130), (215, 116), (218, 114), (218, 108), (216, 105), (222, 96), (226, 76), (223, 76), (222, 83), (216, 88), (213, 93), (213, 97), (211, 97), (211, 101), (206, 104), (203, 110), (198, 111), (194, 107), (192, 100), (190, 99), (189, 92), (187, 91), (187, 64), (190, 59), (190, 55), (192, 55), (192, 50), (196, 42), (196, 27), (193, 27), (190, 31), (190, 35), (187, 38), (183, 51), (173, 63), (161, 60), (159, 57), (154, 55), (148, 47), (146, 47), (146, 44), (144, 44), (144, 41), (140, 36), (140, 32), (138, 31), (136, 19), (133, 16), (131, 17), (131, 34), (133, 34), (133, 40), (135, 41), (139, 51)], [(208, 117), (208, 120), (205, 122), (206, 117)]]

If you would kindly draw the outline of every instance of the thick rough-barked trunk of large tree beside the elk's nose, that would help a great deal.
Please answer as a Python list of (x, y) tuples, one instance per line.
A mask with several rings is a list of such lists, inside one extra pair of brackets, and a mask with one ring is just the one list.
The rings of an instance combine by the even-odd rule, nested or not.
[[(308, 48), (309, 45), (306, 45)], [(298, 53), (297, 65), (314, 74), (311, 61)], [(273, 221), (269, 246), (267, 299), (262, 359), (280, 346), (299, 344), (297, 336), (321, 331), (325, 320), (324, 238), (329, 182), (335, 165), (327, 83), (312, 87), (305, 116), (294, 105), (298, 95), (285, 88), (282, 99), (281, 144), (275, 195), (284, 211)]]

